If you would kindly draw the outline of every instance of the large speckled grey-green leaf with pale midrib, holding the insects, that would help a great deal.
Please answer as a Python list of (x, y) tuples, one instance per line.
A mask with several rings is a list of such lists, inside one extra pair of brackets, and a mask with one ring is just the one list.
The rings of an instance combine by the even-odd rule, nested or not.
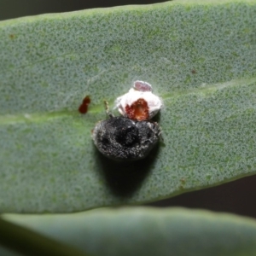
[[(142, 203), (255, 173), (256, 1), (173, 1), (0, 23), (0, 212)], [(164, 143), (106, 160), (103, 100), (153, 84)], [(89, 112), (79, 113), (90, 95)]]

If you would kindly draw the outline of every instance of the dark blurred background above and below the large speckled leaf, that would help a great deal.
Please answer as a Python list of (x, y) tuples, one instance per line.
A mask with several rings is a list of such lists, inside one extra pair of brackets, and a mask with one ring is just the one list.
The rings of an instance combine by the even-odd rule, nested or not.
[[(80, 9), (112, 7), (126, 4), (148, 4), (165, 1), (154, 0), (0, 0), (0, 20), (27, 15), (59, 13)], [(231, 183), (178, 195), (174, 198), (150, 204), (156, 207), (204, 208), (219, 212), (256, 218), (256, 176), (244, 177)]]

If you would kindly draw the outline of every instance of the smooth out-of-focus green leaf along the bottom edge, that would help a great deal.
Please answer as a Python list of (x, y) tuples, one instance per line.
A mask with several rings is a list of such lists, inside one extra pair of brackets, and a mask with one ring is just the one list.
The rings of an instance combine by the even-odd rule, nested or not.
[(101, 209), (9, 221), (92, 255), (255, 255), (256, 222), (182, 208)]

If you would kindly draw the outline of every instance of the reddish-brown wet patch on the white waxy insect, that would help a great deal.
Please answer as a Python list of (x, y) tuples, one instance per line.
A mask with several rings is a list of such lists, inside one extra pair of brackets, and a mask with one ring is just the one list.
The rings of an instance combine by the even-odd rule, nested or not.
[(138, 99), (136, 102), (133, 102), (131, 106), (126, 105), (125, 112), (129, 119), (138, 121), (147, 120), (149, 118), (148, 102), (143, 99)]

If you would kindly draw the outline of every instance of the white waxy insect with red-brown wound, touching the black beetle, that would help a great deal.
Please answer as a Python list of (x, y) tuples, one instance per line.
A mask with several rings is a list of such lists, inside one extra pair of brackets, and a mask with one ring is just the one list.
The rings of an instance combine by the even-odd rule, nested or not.
[(121, 115), (137, 121), (152, 119), (162, 106), (160, 97), (152, 93), (151, 84), (144, 81), (135, 81), (133, 88), (115, 101)]

